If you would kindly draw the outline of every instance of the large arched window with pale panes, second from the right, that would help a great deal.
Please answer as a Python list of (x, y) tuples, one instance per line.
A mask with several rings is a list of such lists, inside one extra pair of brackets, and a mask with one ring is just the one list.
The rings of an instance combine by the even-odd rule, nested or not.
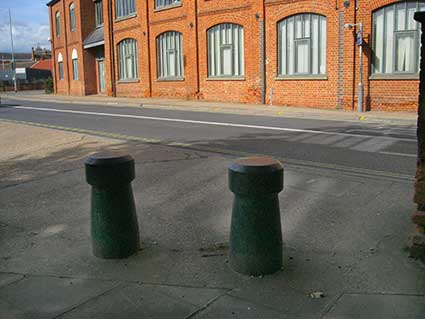
[(326, 17), (298, 14), (277, 28), (278, 76), (326, 74)]

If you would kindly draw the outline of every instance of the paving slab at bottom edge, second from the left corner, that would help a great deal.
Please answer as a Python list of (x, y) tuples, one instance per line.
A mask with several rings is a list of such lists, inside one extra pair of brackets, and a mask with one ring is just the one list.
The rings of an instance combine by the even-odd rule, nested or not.
[(226, 291), (131, 284), (87, 302), (63, 319), (187, 318)]

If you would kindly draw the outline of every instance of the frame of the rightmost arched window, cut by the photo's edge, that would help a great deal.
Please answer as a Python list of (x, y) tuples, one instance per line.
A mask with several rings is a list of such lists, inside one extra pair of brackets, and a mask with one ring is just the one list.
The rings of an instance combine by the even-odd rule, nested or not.
[[(420, 58), (420, 35), (421, 35), (421, 28), (419, 23), (416, 21), (414, 22), (416, 29), (409, 29), (409, 3), (416, 3), (416, 9), (415, 12), (420, 11), (421, 4), (425, 7), (424, 1), (399, 1), (395, 3), (391, 3), (385, 6), (382, 6), (380, 8), (377, 8), (372, 12), (372, 59), (371, 59), (371, 67), (370, 67), (370, 77), (371, 78), (410, 78), (414, 77), (417, 78), (419, 76), (419, 58)], [(404, 11), (404, 30), (398, 30), (398, 11), (400, 10), (400, 6), (403, 7)], [(393, 30), (391, 33), (387, 33), (387, 11), (393, 10)], [(376, 55), (377, 51), (377, 16), (378, 13), (381, 13), (383, 15), (382, 17), (382, 62), (377, 65), (377, 61), (379, 60), (379, 57)], [(410, 21), (412, 22), (412, 21)], [(399, 71), (398, 68), (398, 41), (397, 38), (401, 35), (412, 35), (414, 39), (414, 47), (412, 48), (412, 54), (414, 56), (412, 57), (414, 59), (414, 70), (413, 72), (405, 72), (405, 71)], [(388, 61), (388, 52), (387, 52), (387, 36), (390, 35), (392, 38), (392, 52), (391, 52), (391, 58), (392, 58), (392, 66), (391, 71), (387, 72), (387, 61)]]

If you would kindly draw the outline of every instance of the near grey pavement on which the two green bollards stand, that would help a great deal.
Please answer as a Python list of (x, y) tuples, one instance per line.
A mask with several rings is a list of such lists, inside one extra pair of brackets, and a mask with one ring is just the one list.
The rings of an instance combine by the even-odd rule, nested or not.
[[(405, 251), (411, 182), (285, 165), (284, 268), (250, 278), (227, 266), (234, 157), (3, 121), (0, 145), (1, 318), (416, 319), (425, 312), (425, 267)], [(142, 250), (119, 261), (91, 254), (82, 165), (110, 149), (131, 153), (137, 169)]]

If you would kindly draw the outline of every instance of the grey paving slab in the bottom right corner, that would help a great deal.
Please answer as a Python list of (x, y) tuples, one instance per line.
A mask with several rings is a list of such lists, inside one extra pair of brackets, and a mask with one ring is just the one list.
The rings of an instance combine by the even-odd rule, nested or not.
[(424, 318), (425, 295), (344, 294), (324, 319)]

